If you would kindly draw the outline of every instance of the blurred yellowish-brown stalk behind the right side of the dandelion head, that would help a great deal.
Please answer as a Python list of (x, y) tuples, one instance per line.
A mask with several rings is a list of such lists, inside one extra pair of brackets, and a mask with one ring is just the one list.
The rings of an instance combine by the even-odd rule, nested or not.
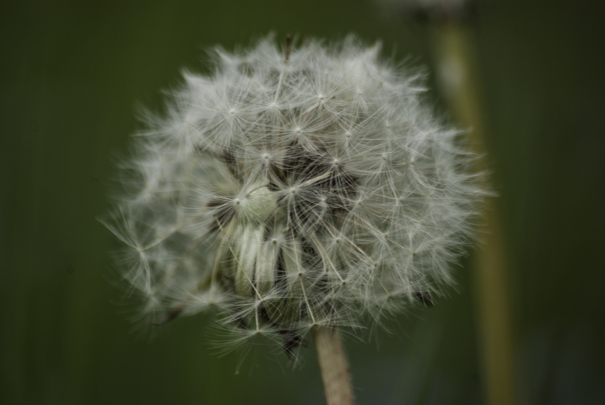
[[(479, 102), (476, 56), (469, 29), (450, 22), (434, 30), (437, 69), (444, 96), (454, 116), (470, 129), (469, 145), (479, 156), (486, 155), (485, 127)], [(477, 163), (486, 170), (485, 159)], [(509, 313), (506, 260), (499, 208), (493, 197), (485, 200), (482, 247), (474, 255), (474, 285), (483, 349), (483, 372), (489, 405), (515, 403), (511, 316)]]

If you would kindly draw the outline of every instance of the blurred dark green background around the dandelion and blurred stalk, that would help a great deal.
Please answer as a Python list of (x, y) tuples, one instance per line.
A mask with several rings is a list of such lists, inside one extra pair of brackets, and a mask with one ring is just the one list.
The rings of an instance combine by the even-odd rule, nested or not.
[[(520, 404), (605, 403), (597, 4), (494, 0), (472, 24)], [(212, 353), (203, 315), (138, 330), (108, 255), (117, 242), (96, 221), (136, 105), (158, 108), (183, 67), (205, 71), (204, 48), (269, 31), (382, 39), (386, 57), (432, 71), (427, 29), (369, 0), (0, 3), (0, 403), (322, 403), (312, 345), (294, 370), (270, 352), (238, 368)], [(445, 113), (438, 90), (428, 97)], [(457, 291), (393, 320), (393, 335), (347, 340), (359, 404), (484, 403), (470, 275), (457, 275)]]

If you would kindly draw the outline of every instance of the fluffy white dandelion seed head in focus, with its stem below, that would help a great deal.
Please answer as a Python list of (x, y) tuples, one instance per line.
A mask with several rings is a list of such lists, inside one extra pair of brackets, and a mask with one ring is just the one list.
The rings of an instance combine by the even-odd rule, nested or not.
[(480, 176), (422, 77), (379, 51), (353, 37), (216, 50), (211, 75), (185, 73), (165, 116), (148, 114), (107, 222), (145, 315), (215, 307), (235, 343), (266, 335), (290, 356), (313, 331), (346, 367), (336, 328), (453, 282)]

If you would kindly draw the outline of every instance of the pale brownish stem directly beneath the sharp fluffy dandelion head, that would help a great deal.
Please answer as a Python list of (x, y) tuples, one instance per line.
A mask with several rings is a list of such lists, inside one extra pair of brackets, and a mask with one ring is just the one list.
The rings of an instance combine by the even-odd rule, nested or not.
[(355, 404), (347, 359), (338, 329), (316, 326), (313, 329), (313, 340), (315, 340), (321, 380), (324, 383), (325, 403), (327, 405)]

